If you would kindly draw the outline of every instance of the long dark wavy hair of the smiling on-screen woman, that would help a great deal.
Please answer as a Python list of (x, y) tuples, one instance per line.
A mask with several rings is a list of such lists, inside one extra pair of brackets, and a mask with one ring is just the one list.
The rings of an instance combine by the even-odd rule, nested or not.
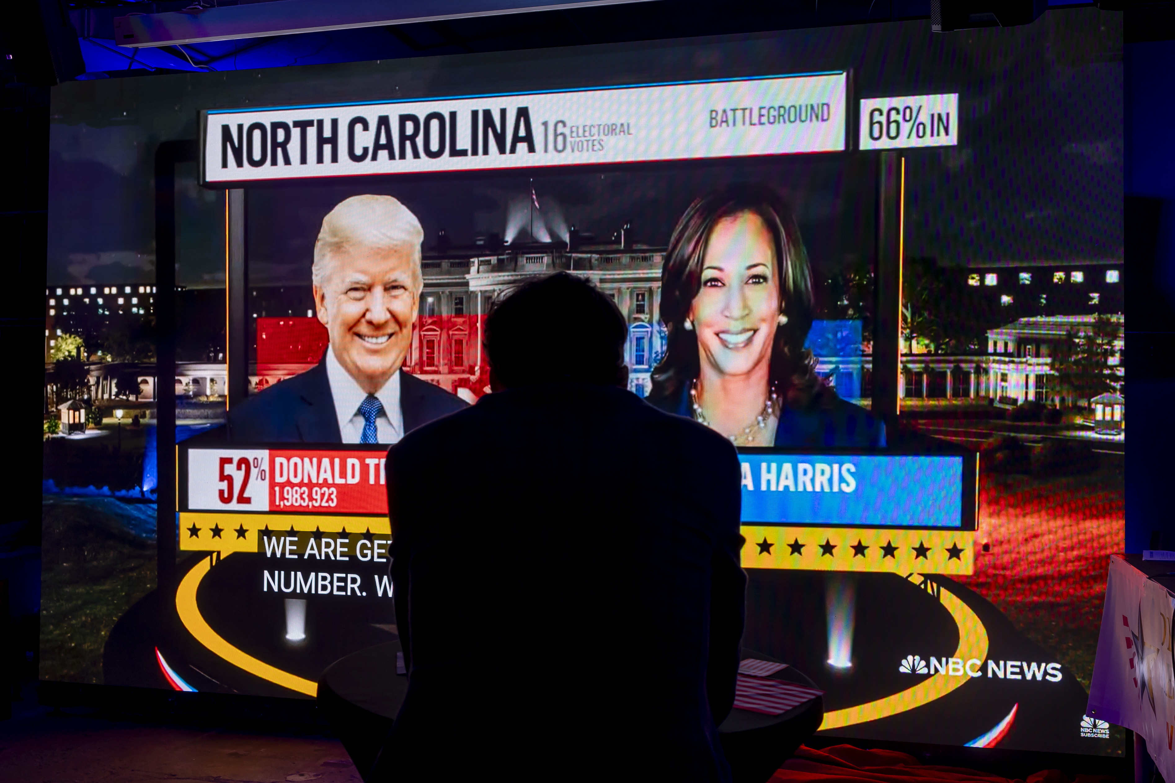
[(751, 212), (763, 220), (774, 242), (779, 306), (787, 323), (776, 330), (771, 384), (788, 404), (806, 406), (824, 391), (815, 358), (804, 347), (815, 304), (812, 269), (792, 210), (765, 184), (736, 184), (696, 200), (677, 222), (662, 266), (660, 318), (669, 331), (665, 356), (653, 370), (649, 399), (676, 406), (684, 387), (698, 377), (698, 335), (685, 329), (701, 290), (701, 262), (710, 235), (725, 217)]

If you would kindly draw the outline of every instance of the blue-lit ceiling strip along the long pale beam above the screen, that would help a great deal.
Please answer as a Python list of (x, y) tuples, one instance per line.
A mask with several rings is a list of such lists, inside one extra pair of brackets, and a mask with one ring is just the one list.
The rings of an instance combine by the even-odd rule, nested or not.
[[(53, 2), (54, 0), (42, 0)], [(167, 70), (236, 70), (753, 33), (799, 27), (928, 18), (929, 0), (654, 0), (568, 11), (240, 39), (142, 48), (119, 47), (113, 20), (132, 13), (190, 8), (177, 2), (65, 0), (85, 72), (109, 76)], [(204, 4), (212, 6), (212, 2)], [(219, 5), (237, 5), (233, 0)], [(26, 54), (27, 58), (27, 54)], [(128, 73), (129, 72), (129, 73)]]

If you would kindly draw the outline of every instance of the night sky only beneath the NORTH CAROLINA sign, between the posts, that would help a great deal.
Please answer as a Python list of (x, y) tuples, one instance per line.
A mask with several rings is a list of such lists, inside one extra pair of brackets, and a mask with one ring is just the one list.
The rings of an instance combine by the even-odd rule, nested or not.
[(539, 204), (535, 236), (540, 241), (566, 236), (565, 230), (544, 232), (548, 224), (573, 225), (593, 234), (595, 242), (607, 242), (631, 224), (627, 241), (664, 247), (693, 198), (736, 181), (766, 182), (783, 193), (801, 221), (813, 263), (835, 269), (867, 257), (872, 247), (874, 168), (861, 157), (805, 155), (492, 176), (363, 177), (257, 189), (249, 197), (250, 278), (255, 284), (306, 283), (322, 217), (356, 194), (387, 194), (404, 202), (424, 227), (425, 250), (441, 230), (452, 245), (472, 245), (490, 232), (515, 238), (515, 241), (529, 242), (532, 184)]

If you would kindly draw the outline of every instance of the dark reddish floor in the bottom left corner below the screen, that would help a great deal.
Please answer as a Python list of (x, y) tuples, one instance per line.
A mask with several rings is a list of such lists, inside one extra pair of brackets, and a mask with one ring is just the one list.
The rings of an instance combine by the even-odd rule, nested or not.
[(343, 745), (315, 727), (160, 723), (93, 709), (56, 714), (31, 684), (0, 721), (5, 783), (358, 782)]

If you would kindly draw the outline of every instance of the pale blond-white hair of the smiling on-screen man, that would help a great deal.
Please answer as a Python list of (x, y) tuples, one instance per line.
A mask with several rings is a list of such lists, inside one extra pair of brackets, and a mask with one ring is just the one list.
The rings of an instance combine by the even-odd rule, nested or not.
[(324, 288), (330, 276), (330, 257), (348, 247), (405, 249), (412, 254), (416, 292), (424, 286), (421, 274), (421, 242), (424, 229), (411, 210), (391, 196), (351, 196), (322, 218), (322, 230), (314, 243), (310, 278)]

